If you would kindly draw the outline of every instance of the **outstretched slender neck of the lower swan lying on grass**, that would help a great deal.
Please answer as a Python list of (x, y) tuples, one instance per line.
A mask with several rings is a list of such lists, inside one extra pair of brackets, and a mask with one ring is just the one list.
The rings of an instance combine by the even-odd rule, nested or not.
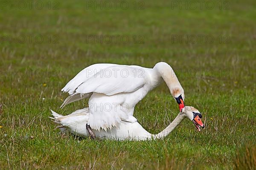
[(182, 120), (185, 118), (186, 116), (182, 113), (179, 113), (175, 119), (172, 121), (172, 123), (170, 123), (169, 126), (167, 126), (162, 132), (158, 133), (157, 135), (154, 135), (153, 137), (156, 139), (160, 139), (163, 138), (167, 135), (169, 135), (169, 133), (172, 132), (172, 130), (175, 129), (175, 127), (177, 127), (177, 125), (180, 124), (180, 122), (182, 122)]

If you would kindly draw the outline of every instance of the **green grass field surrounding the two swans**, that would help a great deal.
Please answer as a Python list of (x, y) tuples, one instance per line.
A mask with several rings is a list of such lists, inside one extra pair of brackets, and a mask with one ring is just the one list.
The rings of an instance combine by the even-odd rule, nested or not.
[[(192, 1), (118, 1), (110, 9), (99, 0), (32, 1), (24, 9), (22, 2), (0, 6), (0, 169), (256, 169), (255, 0), (202, 8)], [(53, 130), (49, 109), (67, 115), (87, 106), (83, 100), (59, 109), (67, 97), (61, 88), (83, 68), (105, 62), (152, 68), (159, 61), (176, 71), (185, 104), (201, 111), (200, 133), (188, 119), (149, 142)], [(134, 116), (158, 133), (177, 113), (163, 83)]]

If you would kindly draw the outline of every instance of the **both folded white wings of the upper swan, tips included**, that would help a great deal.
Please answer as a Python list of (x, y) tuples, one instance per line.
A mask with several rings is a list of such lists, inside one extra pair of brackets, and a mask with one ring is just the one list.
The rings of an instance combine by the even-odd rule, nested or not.
[(61, 90), (70, 94), (61, 108), (71, 102), (89, 98), (93, 92), (110, 96), (135, 91), (145, 84), (144, 73), (143, 67), (136, 65), (90, 65), (80, 71)]

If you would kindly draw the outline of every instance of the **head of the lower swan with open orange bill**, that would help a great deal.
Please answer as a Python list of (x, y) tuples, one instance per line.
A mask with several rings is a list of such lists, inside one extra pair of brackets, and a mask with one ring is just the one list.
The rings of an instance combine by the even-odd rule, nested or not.
[(201, 120), (202, 115), (196, 108), (192, 106), (186, 106), (182, 109), (180, 113), (184, 113), (185, 116), (194, 123), (198, 131), (200, 131), (200, 127), (204, 128), (204, 123)]

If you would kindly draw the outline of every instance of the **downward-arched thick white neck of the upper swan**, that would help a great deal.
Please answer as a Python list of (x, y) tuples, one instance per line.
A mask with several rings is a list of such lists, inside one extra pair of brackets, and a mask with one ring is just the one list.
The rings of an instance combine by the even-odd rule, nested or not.
[(158, 74), (160, 74), (160, 76), (166, 82), (166, 85), (170, 89), (171, 93), (172, 90), (175, 88), (183, 89), (175, 72), (169, 64), (167, 64), (166, 62), (158, 62), (153, 69), (156, 70)]

